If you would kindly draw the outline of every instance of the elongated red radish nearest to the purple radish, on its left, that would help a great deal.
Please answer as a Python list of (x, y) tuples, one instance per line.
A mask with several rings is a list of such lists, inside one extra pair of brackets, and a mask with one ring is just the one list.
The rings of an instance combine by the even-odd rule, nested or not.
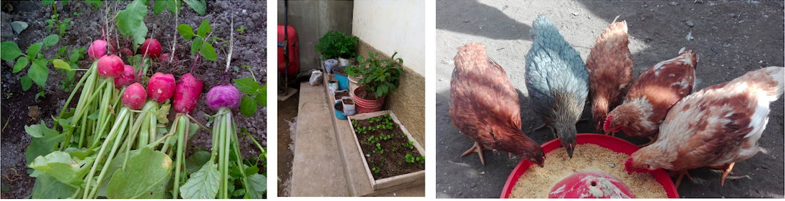
[(180, 83), (174, 88), (174, 111), (177, 113), (191, 113), (202, 95), (202, 81), (191, 74), (180, 77)]

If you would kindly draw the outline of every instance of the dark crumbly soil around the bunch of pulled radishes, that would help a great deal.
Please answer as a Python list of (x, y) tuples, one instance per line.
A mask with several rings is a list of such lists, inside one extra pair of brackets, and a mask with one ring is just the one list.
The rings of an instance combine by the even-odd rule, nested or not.
[[(68, 1), (66, 5), (62, 5), (60, 2), (55, 3), (57, 4), (57, 13), (61, 15), (61, 19), (71, 17), (73, 20), (70, 23), (71, 29), (67, 31), (63, 38), (60, 38), (57, 45), (46, 50), (47, 58), (55, 54), (57, 49), (63, 45), (69, 45), (68, 50), (75, 47), (88, 48), (93, 40), (101, 36), (101, 25), (104, 24), (101, 16), (106, 13), (107, 5), (113, 10), (115, 7), (124, 9), (125, 5), (130, 2), (102, 2), (104, 4), (97, 10), (85, 2)], [(208, 1), (206, 15), (199, 16), (188, 5), (183, 4), (179, 21), (175, 23), (174, 15), (166, 11), (159, 15), (154, 15), (152, 13), (152, 5), (149, 5), (148, 16), (144, 19), (149, 30), (148, 37), (156, 38), (161, 42), (162, 53), (170, 52), (171, 42), (173, 38), (177, 38), (178, 47), (175, 55), (182, 61), (181, 66), (171, 69), (159, 68), (159, 65), (154, 64), (152, 71), (173, 73), (175, 77), (180, 77), (192, 69), (191, 66), (194, 63), (194, 59), (188, 53), (191, 42), (184, 41), (180, 34), (174, 32), (177, 24), (188, 23), (192, 27), (198, 27), (203, 20), (210, 19), (214, 36), (228, 40), (230, 20), (232, 19), (232, 14), (234, 14), (235, 29), (239, 25), (245, 25), (247, 28), (243, 35), (238, 35), (235, 31), (235, 48), (232, 53), (231, 64), (232, 66), (253, 66), (254, 75), (261, 83), (265, 83), (267, 80), (265, 71), (267, 65), (267, 51), (265, 51), (267, 27), (266, 23), (264, 23), (266, 22), (266, 6), (267, 3), (265, 1)], [(74, 13), (80, 13), (80, 15), (75, 16)], [(2, 41), (15, 41), (23, 52), (26, 51), (27, 46), (42, 41), (49, 34), (54, 34), (54, 32), (46, 33), (47, 24), (45, 20), (48, 20), (51, 14), (53, 14), (51, 6), (42, 6), (41, 2), (3, 2)], [(30, 26), (27, 27), (27, 30), (16, 34), (10, 27), (10, 22), (15, 20), (25, 21)], [(214, 47), (218, 56), (217, 62), (200, 59), (193, 72), (196, 77), (202, 77), (204, 80), (204, 91), (199, 102), (204, 102), (206, 92), (216, 85), (231, 84), (234, 78), (251, 77), (248, 70), (240, 70), (239, 72), (229, 70), (228, 74), (225, 74), (228, 48), (224, 45), (214, 45)], [(86, 58), (80, 61), (79, 66), (87, 68), (91, 61), (87, 57), (87, 52), (84, 52), (84, 54)], [(65, 99), (68, 99), (70, 92), (60, 90), (60, 80), (64, 79), (65, 75), (60, 73), (60, 70), (53, 68), (53, 66), (49, 66), (46, 97), (36, 100), (34, 99), (35, 93), (38, 92), (36, 86), (27, 92), (21, 90), (20, 77), (26, 74), (27, 71), (23, 70), (18, 74), (13, 74), (12, 68), (13, 62), (2, 62), (2, 173), (9, 176), (8, 178), (2, 177), (2, 185), (4, 188), (5, 186), (9, 188), (8, 191), (2, 191), (2, 198), (24, 198), (30, 195), (32, 192), (31, 188), (35, 183), (35, 178), (27, 176), (27, 167), (25, 167), (24, 152), (31, 138), (24, 132), (24, 126), (38, 124), (38, 120), (28, 121), (28, 107), (40, 107), (41, 115), (39, 119), (51, 127), (51, 117), (57, 116), (65, 104)], [(81, 77), (81, 73), (77, 73), (75, 79), (79, 81), (79, 77)], [(72, 101), (71, 104), (75, 106), (76, 101)], [(173, 114), (173, 112), (171, 113)], [(204, 124), (206, 123), (204, 116), (214, 113), (206, 104), (197, 104), (192, 116)], [(260, 106), (257, 113), (251, 117), (243, 117), (239, 112), (235, 112), (234, 117), (238, 127), (246, 127), (261, 145), (267, 145), (266, 107)], [(209, 148), (211, 136), (212, 134), (208, 131), (199, 131), (188, 142), (188, 145)], [(256, 145), (250, 141), (250, 138), (240, 138), (239, 140), (243, 157), (258, 156), (260, 152)], [(17, 170), (20, 175), (13, 176), (12, 168)]]

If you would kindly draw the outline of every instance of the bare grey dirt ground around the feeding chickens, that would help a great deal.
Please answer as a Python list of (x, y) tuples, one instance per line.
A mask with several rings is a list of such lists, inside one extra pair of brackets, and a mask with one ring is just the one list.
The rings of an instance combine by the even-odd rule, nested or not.
[[(553, 140), (547, 129), (533, 131), (542, 121), (528, 109), (524, 84), (524, 56), (531, 48), (531, 21), (546, 15), (557, 24), (566, 40), (589, 55), (594, 39), (615, 16), (629, 26), (634, 77), (659, 61), (673, 58), (680, 48), (695, 50), (700, 57), (697, 88), (731, 81), (750, 70), (783, 66), (782, 1), (436, 1), (436, 197), (498, 197), (509, 173), (520, 158), (486, 152), (485, 165), (476, 154), (461, 157), (473, 145), (452, 125), (448, 105), (453, 57), (460, 45), (480, 42), (487, 54), (506, 70), (521, 90), (524, 133), (539, 143)], [(688, 25), (691, 24), (691, 25)], [(686, 37), (692, 33), (692, 40)], [(583, 118), (590, 118), (586, 106)], [(593, 132), (588, 122), (577, 125), (579, 133)], [(623, 138), (625, 138), (624, 136)], [(648, 140), (625, 138), (636, 144)], [(736, 163), (725, 186), (720, 172), (709, 168), (690, 170), (692, 181), (682, 181), (681, 197), (779, 197), (783, 181), (783, 99), (771, 104), (769, 124), (759, 141), (756, 156)], [(745, 176), (746, 175), (746, 176)], [(550, 188), (550, 187), (547, 187)]]

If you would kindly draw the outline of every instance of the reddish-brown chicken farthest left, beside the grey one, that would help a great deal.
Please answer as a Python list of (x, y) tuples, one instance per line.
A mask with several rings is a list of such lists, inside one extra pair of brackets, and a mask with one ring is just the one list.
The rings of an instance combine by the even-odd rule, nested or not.
[(543, 166), (542, 147), (520, 130), (518, 94), (502, 66), (485, 56), (485, 45), (458, 47), (450, 97), (452, 124), (474, 140), (462, 156), (476, 152), (485, 164), (483, 150), (502, 150)]

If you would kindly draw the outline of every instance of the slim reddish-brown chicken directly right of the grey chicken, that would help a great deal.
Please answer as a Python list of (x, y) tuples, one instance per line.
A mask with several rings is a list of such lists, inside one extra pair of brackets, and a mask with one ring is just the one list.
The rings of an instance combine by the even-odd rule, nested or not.
[(622, 103), (633, 81), (633, 55), (627, 48), (630, 44), (627, 22), (613, 22), (602, 31), (589, 58), (586, 58), (591, 114), (598, 132), (602, 131), (608, 111)]

